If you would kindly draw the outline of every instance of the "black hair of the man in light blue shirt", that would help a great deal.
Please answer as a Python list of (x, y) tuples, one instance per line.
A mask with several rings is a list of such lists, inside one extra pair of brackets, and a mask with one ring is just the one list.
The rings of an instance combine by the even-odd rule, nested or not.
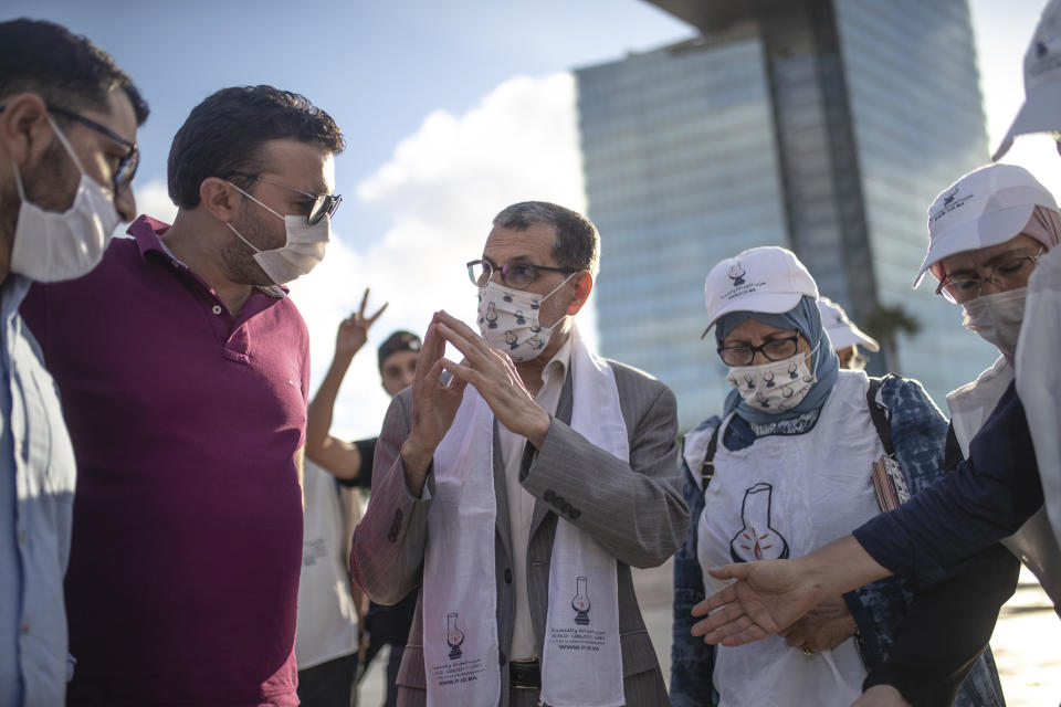
[(0, 22), (0, 103), (31, 92), (51, 107), (109, 114), (108, 94), (115, 87), (125, 91), (137, 125), (143, 125), (147, 103), (111, 54), (53, 22), (25, 18)]

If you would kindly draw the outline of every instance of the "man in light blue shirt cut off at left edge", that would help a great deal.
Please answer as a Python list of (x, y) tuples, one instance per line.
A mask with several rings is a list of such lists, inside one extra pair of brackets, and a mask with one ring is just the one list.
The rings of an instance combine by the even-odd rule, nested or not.
[[(46, 48), (46, 49), (42, 49)], [(50, 22), (0, 23), (0, 704), (60, 705), (74, 455), (19, 315), (33, 281), (80, 277), (134, 214), (147, 104), (109, 54)]]

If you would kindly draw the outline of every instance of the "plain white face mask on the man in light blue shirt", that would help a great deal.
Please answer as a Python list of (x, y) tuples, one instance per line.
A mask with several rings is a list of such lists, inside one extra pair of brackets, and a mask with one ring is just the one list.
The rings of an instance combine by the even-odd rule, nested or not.
[(51, 116), (48, 122), (81, 171), (81, 181), (70, 209), (45, 211), (27, 199), (22, 175), (18, 166), (14, 167), (14, 184), (22, 203), (11, 247), (11, 272), (42, 283), (88, 274), (103, 260), (114, 229), (122, 220), (111, 192), (85, 173), (66, 136)]

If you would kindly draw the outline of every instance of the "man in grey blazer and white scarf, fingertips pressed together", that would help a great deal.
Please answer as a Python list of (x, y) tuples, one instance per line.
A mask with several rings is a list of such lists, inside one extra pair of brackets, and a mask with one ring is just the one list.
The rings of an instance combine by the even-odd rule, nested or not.
[(482, 337), (432, 318), (354, 535), (372, 599), (420, 585), (398, 705), (665, 705), (630, 568), (687, 526), (674, 395), (579, 335), (589, 220), (532, 201), (493, 225), (469, 263)]

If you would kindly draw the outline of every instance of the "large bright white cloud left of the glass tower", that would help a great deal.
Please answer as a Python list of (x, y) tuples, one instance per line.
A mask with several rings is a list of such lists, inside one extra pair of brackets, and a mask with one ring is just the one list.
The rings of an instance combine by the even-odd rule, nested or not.
[[(361, 205), (389, 214), (390, 228), (367, 247), (336, 234), (324, 263), (292, 286), (309, 327), (314, 392), (330, 362), (335, 329), (364, 288), (372, 289), (370, 309), (390, 303), (347, 373), (333, 424), (337, 436), (378, 432), (388, 399), (375, 349), (392, 330), (422, 335), (442, 308), (473, 323), (475, 292), (464, 263), (482, 253), (502, 208), (533, 199), (585, 212), (579, 160), (574, 76), (517, 77), (463, 115), (430, 114), (358, 184)], [(579, 320), (593, 346), (592, 302)]]

